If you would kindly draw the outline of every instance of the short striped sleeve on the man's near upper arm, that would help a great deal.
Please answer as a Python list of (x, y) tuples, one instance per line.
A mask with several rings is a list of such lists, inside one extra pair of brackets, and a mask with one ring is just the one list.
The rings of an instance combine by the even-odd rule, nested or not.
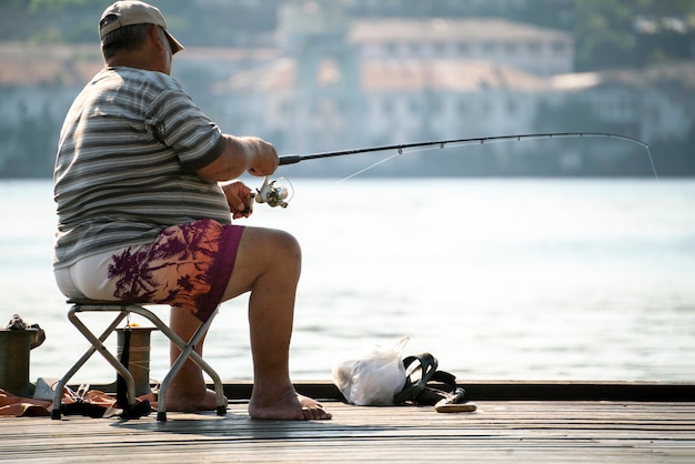
[(173, 150), (187, 172), (207, 167), (224, 150), (220, 128), (182, 90), (161, 92), (145, 123), (152, 137)]

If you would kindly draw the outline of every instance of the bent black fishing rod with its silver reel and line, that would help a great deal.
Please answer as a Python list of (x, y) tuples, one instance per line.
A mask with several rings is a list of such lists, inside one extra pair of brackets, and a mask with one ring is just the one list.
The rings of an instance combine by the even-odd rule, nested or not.
[[(530, 140), (530, 139), (565, 139), (565, 138), (606, 138), (606, 139), (624, 140), (627, 142), (642, 145), (647, 151), (649, 163), (652, 165), (652, 171), (654, 172), (654, 178), (658, 179), (658, 175), (656, 173), (656, 167), (654, 165), (654, 160), (652, 158), (652, 152), (649, 151), (649, 145), (647, 145), (645, 142), (638, 139), (635, 139), (633, 137), (607, 133), (607, 132), (547, 132), (547, 133), (524, 133), (524, 134), (515, 134), (515, 135), (474, 137), (474, 138), (469, 138), (469, 139), (450, 139), (450, 140), (436, 140), (436, 141), (427, 141), (427, 142), (401, 143), (401, 144), (395, 144), (395, 145), (369, 147), (369, 148), (362, 148), (362, 149), (328, 151), (328, 152), (311, 153), (311, 154), (286, 154), (286, 155), (280, 157), (280, 165), (296, 164), (301, 161), (308, 161), (308, 160), (319, 160), (323, 158), (345, 157), (345, 155), (351, 155), (351, 154), (372, 153), (372, 152), (380, 152), (380, 151), (395, 150), (397, 154), (402, 154), (403, 150), (425, 148), (425, 147), (439, 147), (440, 149), (443, 149), (446, 145), (464, 147), (464, 145), (471, 145), (471, 144), (485, 144), (488, 142), (508, 142), (508, 141), (522, 141), (522, 140)], [(387, 158), (384, 161), (387, 161), (391, 158)], [(377, 162), (376, 164), (381, 162)], [(356, 174), (360, 174), (373, 168), (376, 164), (372, 164), (371, 167), (367, 167), (366, 169), (357, 171), (355, 174), (352, 174), (348, 179)], [(289, 204), (290, 198), (292, 196), (293, 190), (291, 188), (291, 184), (288, 185), (288, 184), (282, 183), (281, 181), (284, 181), (289, 184), (289, 181), (284, 178), (270, 181), (270, 178), (266, 176), (265, 182), (263, 182), (263, 185), (260, 189), (256, 189), (255, 193), (251, 194), (252, 200), (255, 199), (256, 203), (268, 203), (270, 206), (273, 206), (273, 208), (274, 206), (286, 208)]]

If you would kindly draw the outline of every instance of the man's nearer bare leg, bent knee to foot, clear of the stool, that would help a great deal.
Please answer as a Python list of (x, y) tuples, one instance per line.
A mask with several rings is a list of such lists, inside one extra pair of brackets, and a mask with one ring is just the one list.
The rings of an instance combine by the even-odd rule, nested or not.
[(331, 418), (316, 401), (299, 395), (290, 380), (289, 351), (301, 249), (285, 232), (246, 228), (224, 299), (251, 291), (249, 326), (253, 393), (249, 414), (256, 418)]

